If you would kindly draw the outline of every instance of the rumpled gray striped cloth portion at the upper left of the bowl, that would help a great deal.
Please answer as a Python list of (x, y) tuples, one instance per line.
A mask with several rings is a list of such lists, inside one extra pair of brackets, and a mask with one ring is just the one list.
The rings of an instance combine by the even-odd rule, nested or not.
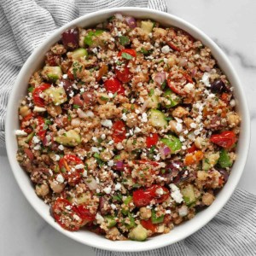
[(81, 15), (122, 6), (166, 11), (165, 0), (0, 0), (0, 147), (9, 93), (33, 49)]

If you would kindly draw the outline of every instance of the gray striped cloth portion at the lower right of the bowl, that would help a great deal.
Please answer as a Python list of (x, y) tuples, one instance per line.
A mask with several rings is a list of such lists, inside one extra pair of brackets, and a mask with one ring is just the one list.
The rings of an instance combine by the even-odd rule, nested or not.
[(95, 251), (97, 256), (255, 256), (256, 195), (236, 189), (211, 222), (168, 247), (141, 253)]

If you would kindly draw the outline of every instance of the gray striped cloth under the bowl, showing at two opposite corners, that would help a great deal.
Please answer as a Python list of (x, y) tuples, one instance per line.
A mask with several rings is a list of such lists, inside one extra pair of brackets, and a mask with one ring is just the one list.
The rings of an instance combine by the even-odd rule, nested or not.
[[(32, 50), (67, 22), (99, 9), (138, 6), (166, 11), (164, 0), (0, 0), (0, 146), (12, 84)], [(256, 255), (256, 195), (236, 189), (207, 226), (169, 247), (142, 253), (95, 250), (98, 256)]]

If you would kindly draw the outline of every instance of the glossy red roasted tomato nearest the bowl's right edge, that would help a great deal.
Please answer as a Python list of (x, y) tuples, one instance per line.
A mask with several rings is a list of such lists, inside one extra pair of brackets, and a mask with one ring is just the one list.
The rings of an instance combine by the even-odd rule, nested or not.
[(213, 134), (210, 141), (219, 147), (231, 148), (236, 143), (236, 134), (234, 131), (223, 131), (220, 134)]

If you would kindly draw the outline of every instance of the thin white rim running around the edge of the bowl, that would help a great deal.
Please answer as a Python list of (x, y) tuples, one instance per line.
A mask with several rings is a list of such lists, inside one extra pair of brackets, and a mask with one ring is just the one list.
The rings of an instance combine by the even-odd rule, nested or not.
[[(28, 69), (28, 67), (30, 67), (32, 65), (32, 61), (35, 58), (35, 56), (38, 55), (38, 53), (40, 53), (42, 51), (42, 49), (47, 44), (49, 44), (49, 42), (53, 38), (59, 36), (61, 34), (61, 32), (66, 30), (67, 28), (75, 26), (79, 22), (82, 22), (83, 20), (90, 19), (95, 15), (101, 16), (101, 15), (106, 15), (106, 13), (110, 15), (113, 13), (133, 12), (133, 11), (135, 11), (135, 12), (141, 11), (141, 12), (143, 12), (143, 15), (155, 15), (156, 14), (156, 15), (160, 15), (162, 18), (166, 17), (168, 19), (175, 20), (177, 23), (182, 24), (183, 26), (186, 26), (189, 33), (191, 31), (197, 33), (200, 36), (199, 37), (200, 40), (202, 40), (202, 38), (203, 38), (205, 41), (207, 41), (208, 44), (211, 45), (211, 46), (209, 46), (210, 49), (214, 48), (218, 52), (218, 54), (221, 55), (221, 57), (224, 60), (225, 65), (227, 65), (227, 67), (230, 68), (230, 76), (236, 80), (236, 84), (237, 84), (236, 90), (240, 94), (240, 98), (241, 98), (241, 108), (242, 108), (242, 112), (243, 112), (242, 122), (245, 126), (244, 127), (245, 131), (243, 131), (243, 133), (244, 133), (243, 152), (242, 152), (241, 159), (240, 159), (239, 166), (238, 166), (238, 167), (240, 167), (240, 171), (239, 170), (237, 171), (238, 173), (236, 173), (234, 183), (232, 183), (232, 185), (230, 185), (229, 190), (227, 190), (227, 189), (225, 190), (225, 195), (222, 195), (221, 199), (219, 199), (218, 205), (216, 205), (215, 207), (212, 206), (211, 212), (209, 213), (209, 215), (205, 216), (206, 214), (204, 214), (204, 218), (202, 219), (201, 223), (196, 224), (194, 229), (186, 230), (186, 232), (182, 232), (182, 235), (173, 238), (172, 241), (168, 241), (168, 239), (161, 239), (161, 241), (157, 240), (157, 242), (152, 242), (152, 241), (154, 241), (154, 238), (153, 238), (153, 239), (149, 240), (149, 242), (144, 242), (143, 246), (141, 246), (142, 243), (140, 243), (140, 245), (138, 245), (137, 241), (131, 241), (130, 243), (127, 243), (128, 241), (124, 241), (125, 244), (122, 243), (122, 241), (111, 241), (108, 243), (106, 242), (102, 245), (102, 244), (99, 244), (97, 241), (94, 241), (94, 239), (91, 239), (90, 241), (84, 241), (80, 237), (73, 235), (74, 234), (73, 232), (63, 230), (58, 224), (55, 224), (55, 222), (50, 222), (49, 218), (47, 218), (47, 216), (44, 214), (44, 212), (40, 211), (39, 207), (36, 206), (32, 202), (33, 201), (32, 196), (29, 195), (30, 191), (26, 190), (26, 187), (24, 186), (24, 184), (22, 182), (20, 182), (18, 173), (15, 172), (16, 166), (15, 166), (14, 158), (15, 158), (16, 153), (13, 152), (15, 146), (11, 142), (11, 137), (15, 136), (14, 130), (13, 130), (14, 128), (13, 128), (13, 124), (12, 124), (13, 123), (13, 121), (12, 121), (13, 108), (12, 107), (13, 107), (13, 103), (15, 101), (15, 93), (17, 91), (19, 91), (19, 86), (20, 86), (19, 80), (26, 75), (26, 70)], [(240, 81), (240, 79), (238, 79), (238, 76), (236, 74), (234, 67), (232, 66), (229, 59), (222, 51), (222, 49), (219, 49), (218, 45), (215, 44), (212, 41), (212, 39), (209, 38), (204, 32), (202, 32), (197, 27), (191, 25), (188, 21), (185, 21), (185, 20), (177, 17), (176, 15), (170, 15), (168, 13), (161, 12), (159, 10), (148, 9), (148, 8), (119, 7), (119, 8), (113, 8), (113, 9), (102, 9), (102, 10), (99, 10), (99, 11), (96, 11), (96, 12), (93, 12), (93, 13), (90, 13), (87, 15), (83, 15), (75, 20), (68, 22), (65, 26), (61, 26), (60, 28), (56, 29), (55, 32), (53, 32), (49, 36), (49, 38), (46, 38), (44, 40), (44, 42), (42, 44), (40, 44), (38, 46), (38, 48), (32, 52), (32, 55), (30, 55), (28, 57), (25, 64), (23, 65), (23, 67), (20, 69), (20, 73), (18, 74), (17, 78), (15, 79), (15, 84), (14, 84), (13, 89), (9, 96), (8, 108), (7, 108), (7, 113), (6, 113), (6, 121), (5, 121), (5, 134), (6, 134), (6, 136), (5, 136), (6, 137), (6, 148), (7, 148), (9, 163), (10, 163), (12, 172), (15, 176), (16, 182), (19, 184), (19, 187), (20, 187), (22, 193), (25, 195), (26, 200), (29, 201), (29, 203), (32, 205), (32, 207), (35, 209), (35, 211), (38, 212), (38, 214), (48, 224), (50, 224), (52, 227), (54, 227), (55, 230), (59, 230), (65, 236), (68, 236), (68, 237), (72, 238), (73, 240), (79, 241), (79, 242), (81, 242), (87, 246), (90, 246), (90, 247), (96, 247), (96, 248), (100, 248), (100, 249), (104, 249), (104, 250), (119, 251), (119, 252), (139, 252), (139, 251), (148, 251), (148, 250), (152, 250), (152, 249), (159, 248), (159, 247), (165, 247), (165, 246), (171, 245), (172, 243), (175, 243), (177, 241), (181, 241), (184, 238), (192, 235), (197, 230), (200, 230), (204, 225), (206, 225), (212, 218), (214, 218), (216, 216), (216, 214), (224, 207), (225, 203), (227, 201), (229, 201), (230, 196), (233, 194), (234, 190), (236, 189), (236, 185), (240, 180), (241, 174), (243, 172), (243, 168), (244, 168), (246, 160), (247, 160), (247, 154), (248, 154), (249, 143), (250, 143), (250, 118), (249, 118), (249, 111), (248, 111), (248, 107), (247, 107), (246, 96), (245, 96), (244, 91), (241, 89), (241, 81)], [(38, 198), (38, 200), (41, 201), (41, 199), (39, 199), (39, 198)], [(208, 209), (209, 208), (210, 207), (208, 207)], [(191, 220), (189, 220), (189, 221), (191, 221)], [(91, 233), (91, 234), (93, 234), (93, 233)], [(167, 235), (168, 234), (162, 235), (162, 236), (167, 236)], [(91, 236), (91, 237), (93, 237), (93, 236)], [(133, 246), (125, 247), (126, 244), (129, 246), (132, 244)]]

